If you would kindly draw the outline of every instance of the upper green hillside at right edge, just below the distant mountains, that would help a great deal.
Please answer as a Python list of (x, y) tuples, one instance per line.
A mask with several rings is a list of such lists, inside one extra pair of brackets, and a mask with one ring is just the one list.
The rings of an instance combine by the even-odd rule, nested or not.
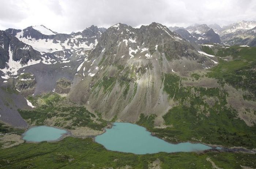
[(256, 98), (256, 47), (222, 48), (216, 54), (219, 57), (232, 56), (232, 61), (219, 59), (219, 64), (211, 68), (207, 75), (217, 78), (219, 83), (225, 82), (235, 88), (241, 88), (253, 93)]

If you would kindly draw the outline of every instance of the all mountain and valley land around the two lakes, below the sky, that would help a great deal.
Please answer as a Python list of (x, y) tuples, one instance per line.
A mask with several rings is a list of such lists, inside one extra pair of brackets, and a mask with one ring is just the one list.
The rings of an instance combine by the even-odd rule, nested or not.
[[(0, 168), (256, 168), (255, 70), (255, 21), (0, 31)], [(113, 122), (212, 149), (110, 151), (94, 137)], [(31, 126), (67, 134), (26, 142)]]

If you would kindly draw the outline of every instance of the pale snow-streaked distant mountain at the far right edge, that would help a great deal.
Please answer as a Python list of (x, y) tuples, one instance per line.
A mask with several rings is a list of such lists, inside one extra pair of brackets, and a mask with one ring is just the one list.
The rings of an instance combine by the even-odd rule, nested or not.
[(229, 26), (223, 27), (219, 32), (221, 41), (228, 45), (248, 45), (256, 46), (256, 22), (255, 21), (241, 21), (233, 23)]

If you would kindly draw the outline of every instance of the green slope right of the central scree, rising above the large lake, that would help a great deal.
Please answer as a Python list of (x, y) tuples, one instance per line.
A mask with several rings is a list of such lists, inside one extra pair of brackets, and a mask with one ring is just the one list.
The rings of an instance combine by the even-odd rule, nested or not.
[(179, 80), (177, 75), (165, 74), (164, 90), (179, 103), (163, 116), (165, 124), (171, 127), (145, 127), (170, 142), (189, 140), (249, 149), (256, 147), (256, 126), (247, 126), (237, 118), (236, 110), (226, 106), (224, 89), (183, 87)]

